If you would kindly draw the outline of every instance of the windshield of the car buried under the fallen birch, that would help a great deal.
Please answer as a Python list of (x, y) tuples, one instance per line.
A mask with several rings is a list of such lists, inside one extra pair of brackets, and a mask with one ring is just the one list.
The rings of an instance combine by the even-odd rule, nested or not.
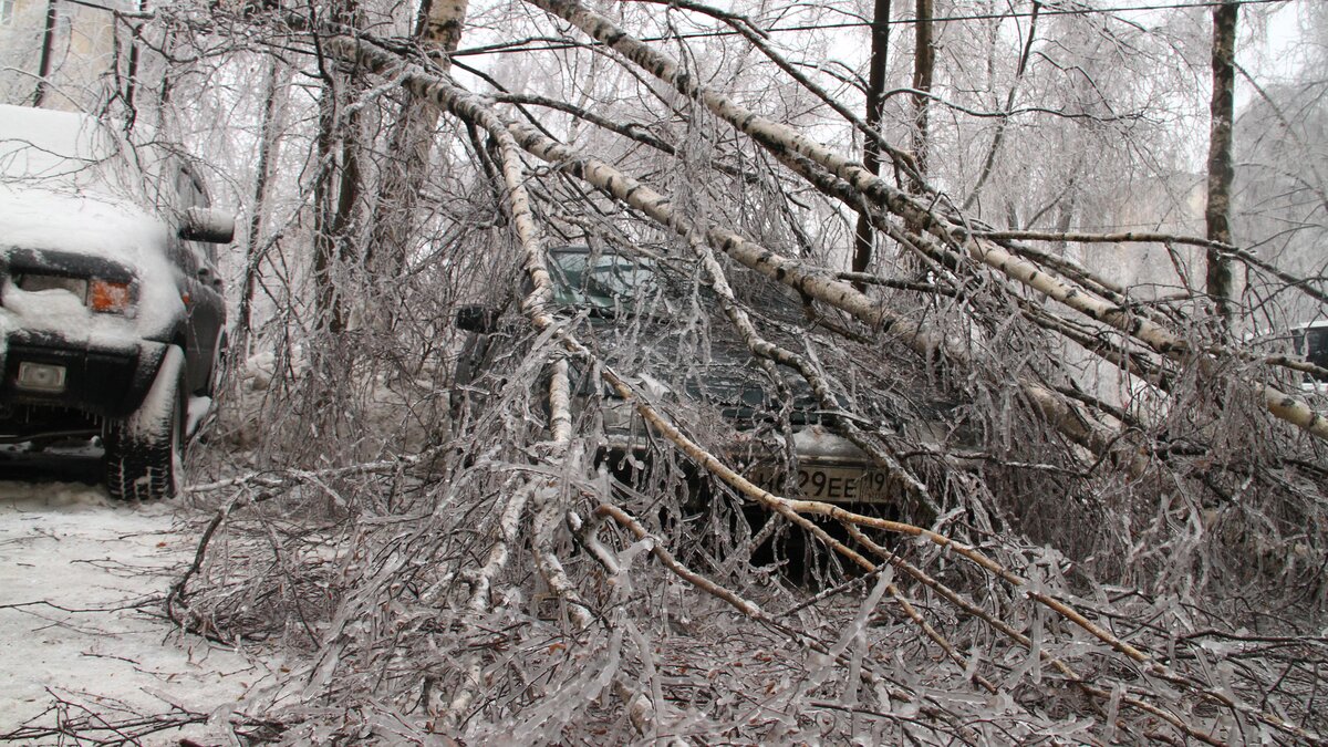
[(612, 253), (552, 251), (554, 300), (598, 312), (633, 314), (655, 290), (648, 262)]

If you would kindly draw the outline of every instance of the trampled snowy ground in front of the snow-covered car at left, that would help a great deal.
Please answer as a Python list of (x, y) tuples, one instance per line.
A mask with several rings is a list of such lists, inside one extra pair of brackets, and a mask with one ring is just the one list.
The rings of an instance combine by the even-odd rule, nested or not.
[[(64, 468), (96, 473), (96, 465)], [(44, 471), (0, 460), (0, 477), (25, 479), (0, 480), (0, 735), (35, 718), (53, 723), (57, 696), (104, 718), (179, 706), (224, 722), (271, 677), (256, 659), (182, 635), (161, 615), (173, 572), (193, 557), (175, 506), (118, 504), (100, 486), (52, 481)], [(199, 743), (224, 743), (210, 732), (218, 730), (189, 727)]]

